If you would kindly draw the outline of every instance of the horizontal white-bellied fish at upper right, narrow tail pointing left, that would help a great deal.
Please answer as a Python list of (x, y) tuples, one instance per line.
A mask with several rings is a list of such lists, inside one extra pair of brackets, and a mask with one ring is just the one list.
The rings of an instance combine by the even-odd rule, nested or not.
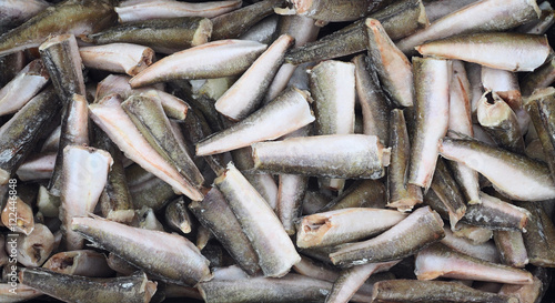
[(450, 37), (418, 46), (427, 57), (458, 59), (507, 71), (533, 71), (549, 54), (547, 37), (485, 32)]

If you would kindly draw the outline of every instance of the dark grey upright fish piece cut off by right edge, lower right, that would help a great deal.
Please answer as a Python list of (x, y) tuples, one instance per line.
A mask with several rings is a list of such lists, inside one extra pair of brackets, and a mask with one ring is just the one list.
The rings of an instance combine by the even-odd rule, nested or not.
[(555, 226), (542, 205), (537, 203), (515, 202), (516, 205), (532, 213), (523, 233), (524, 245), (529, 264), (542, 267), (555, 267)]

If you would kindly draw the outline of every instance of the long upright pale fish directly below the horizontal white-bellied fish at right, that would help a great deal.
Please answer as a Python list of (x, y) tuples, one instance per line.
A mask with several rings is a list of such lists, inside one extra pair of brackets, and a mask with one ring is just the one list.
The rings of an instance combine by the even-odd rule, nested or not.
[(437, 162), (437, 144), (448, 127), (450, 62), (413, 58), (413, 68), (416, 122), (407, 183), (427, 190)]

